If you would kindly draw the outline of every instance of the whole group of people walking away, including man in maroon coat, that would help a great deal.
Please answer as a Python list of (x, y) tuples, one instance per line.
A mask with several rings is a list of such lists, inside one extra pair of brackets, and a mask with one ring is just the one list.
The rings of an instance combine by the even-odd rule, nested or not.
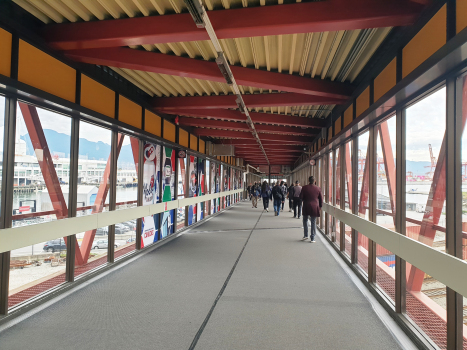
[(316, 186), (313, 176), (308, 178), (308, 185), (301, 186), (299, 181), (292, 183), (290, 187), (284, 181), (273, 183), (272, 188), (267, 181), (262, 184), (255, 182), (247, 188), (250, 195), (252, 208), (257, 208), (258, 198), (263, 201), (264, 210), (269, 212), (269, 200), (273, 201), (274, 216), (279, 216), (284, 211), (285, 200), (289, 200), (289, 212), (294, 213), (294, 218), (303, 217), (303, 238), (308, 239), (308, 220), (311, 223), (310, 239), (315, 242), (316, 218), (320, 216), (323, 206), (321, 188)]

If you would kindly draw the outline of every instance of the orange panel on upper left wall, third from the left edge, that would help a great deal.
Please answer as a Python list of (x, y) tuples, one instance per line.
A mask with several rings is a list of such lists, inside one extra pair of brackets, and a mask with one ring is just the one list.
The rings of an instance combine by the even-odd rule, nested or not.
[(86, 75), (81, 75), (81, 106), (115, 118), (115, 92)]

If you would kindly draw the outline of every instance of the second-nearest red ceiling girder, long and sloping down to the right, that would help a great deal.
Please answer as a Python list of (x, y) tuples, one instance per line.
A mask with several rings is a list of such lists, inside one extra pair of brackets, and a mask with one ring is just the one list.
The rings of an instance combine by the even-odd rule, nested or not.
[[(83, 63), (225, 83), (216, 62), (123, 47), (71, 50), (66, 55)], [(353, 91), (346, 83), (238, 66), (230, 68), (239, 85), (337, 99), (348, 98)]]

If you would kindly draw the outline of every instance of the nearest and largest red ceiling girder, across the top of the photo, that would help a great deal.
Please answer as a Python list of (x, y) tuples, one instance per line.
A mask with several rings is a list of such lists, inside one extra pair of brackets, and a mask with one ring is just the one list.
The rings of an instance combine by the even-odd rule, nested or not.
[[(421, 6), (409, 1), (323, 2), (208, 11), (219, 39), (411, 25)], [(46, 40), (70, 50), (209, 40), (188, 13), (49, 25)]]

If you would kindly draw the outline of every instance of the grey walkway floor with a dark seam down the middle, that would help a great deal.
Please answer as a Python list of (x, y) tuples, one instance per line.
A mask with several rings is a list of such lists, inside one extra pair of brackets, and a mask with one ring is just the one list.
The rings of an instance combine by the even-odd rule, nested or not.
[(399, 349), (327, 243), (260, 206), (77, 290), (0, 333), (0, 349)]

